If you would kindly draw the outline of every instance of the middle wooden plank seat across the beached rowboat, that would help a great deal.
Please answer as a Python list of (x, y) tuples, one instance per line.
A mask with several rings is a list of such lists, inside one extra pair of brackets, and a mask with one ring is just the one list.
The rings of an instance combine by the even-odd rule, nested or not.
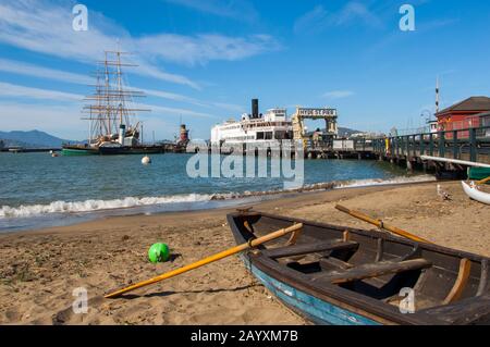
[(406, 261), (381, 261), (345, 270), (322, 272), (311, 276), (311, 281), (327, 281), (333, 284), (343, 284), (407, 271), (424, 270), (431, 265), (432, 263), (430, 261), (421, 258)]

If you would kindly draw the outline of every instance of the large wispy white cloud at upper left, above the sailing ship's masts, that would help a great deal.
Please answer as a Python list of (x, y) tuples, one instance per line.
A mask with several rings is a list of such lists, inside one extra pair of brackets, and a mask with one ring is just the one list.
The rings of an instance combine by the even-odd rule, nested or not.
[[(60, 4), (61, 3), (61, 4)], [(72, 5), (66, 1), (17, 0), (0, 4), (0, 42), (26, 50), (93, 63), (103, 50), (136, 52), (134, 73), (199, 88), (189, 78), (160, 67), (161, 61), (204, 64), (210, 60), (240, 60), (278, 48), (269, 36), (235, 38), (222, 35), (182, 36), (170, 34), (133, 37), (126, 29), (88, 9), (88, 30), (72, 28)]]

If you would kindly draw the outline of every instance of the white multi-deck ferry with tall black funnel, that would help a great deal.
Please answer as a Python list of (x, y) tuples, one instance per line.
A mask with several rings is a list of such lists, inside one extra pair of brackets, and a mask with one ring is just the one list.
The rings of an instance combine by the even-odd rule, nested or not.
[(270, 109), (258, 113), (258, 100), (252, 100), (252, 114), (244, 113), (240, 122), (234, 120), (211, 129), (211, 145), (268, 144), (293, 139), (293, 125), (285, 109)]

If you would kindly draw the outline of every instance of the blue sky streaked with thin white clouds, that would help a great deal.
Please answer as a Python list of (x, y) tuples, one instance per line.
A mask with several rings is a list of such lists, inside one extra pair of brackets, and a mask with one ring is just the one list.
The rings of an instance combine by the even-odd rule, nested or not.
[[(74, 32), (76, 3), (0, 0), (1, 131), (86, 138), (82, 99), (118, 40), (139, 65), (128, 83), (147, 92), (140, 119), (159, 139), (181, 117), (209, 138), (254, 97), (262, 111), (335, 107), (341, 126), (388, 132), (433, 111), (438, 75), (442, 107), (490, 95), (489, 1), (85, 0), (88, 32)], [(399, 28), (404, 3), (415, 32)]]

